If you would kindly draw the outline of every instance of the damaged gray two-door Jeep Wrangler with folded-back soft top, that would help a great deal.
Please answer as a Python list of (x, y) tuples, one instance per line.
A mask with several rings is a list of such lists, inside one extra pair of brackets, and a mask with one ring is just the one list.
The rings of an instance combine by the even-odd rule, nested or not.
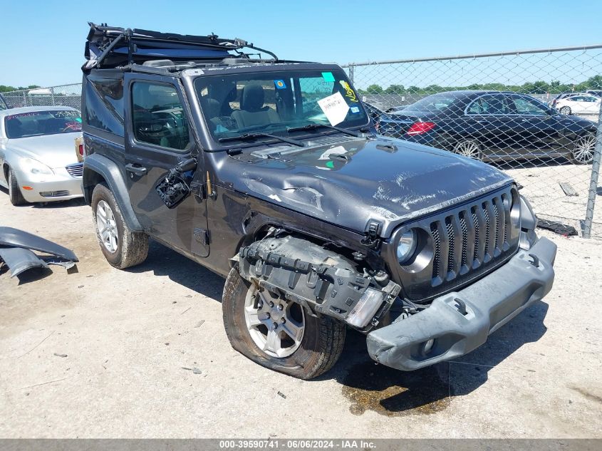
[(339, 66), (93, 24), (85, 56), (101, 251), (127, 268), (151, 237), (226, 277), (227, 336), (252, 361), (313, 378), (353, 328), (375, 361), (415, 370), (551, 289), (556, 246), (513, 180), (376, 135)]

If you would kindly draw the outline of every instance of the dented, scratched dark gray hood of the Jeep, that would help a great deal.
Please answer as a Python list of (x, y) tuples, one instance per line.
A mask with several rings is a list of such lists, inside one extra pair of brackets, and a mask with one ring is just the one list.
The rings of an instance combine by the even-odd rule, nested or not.
[(383, 224), (383, 237), (401, 222), (512, 182), (482, 162), (412, 142), (380, 137), (324, 140), (340, 142), (227, 157), (228, 162), (216, 165), (218, 179), (356, 232), (363, 233), (368, 221), (376, 219)]

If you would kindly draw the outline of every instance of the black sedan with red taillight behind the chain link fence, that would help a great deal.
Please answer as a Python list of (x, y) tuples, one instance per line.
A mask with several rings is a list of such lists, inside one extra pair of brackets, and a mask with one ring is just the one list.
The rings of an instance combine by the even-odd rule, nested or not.
[(429, 95), (381, 115), (378, 133), (477, 160), (568, 157), (593, 159), (596, 126), (560, 115), (530, 95), (457, 90)]

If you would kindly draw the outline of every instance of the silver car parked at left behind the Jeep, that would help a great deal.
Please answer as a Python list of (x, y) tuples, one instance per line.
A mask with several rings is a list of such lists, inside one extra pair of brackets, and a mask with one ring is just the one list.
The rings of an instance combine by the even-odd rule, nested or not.
[(75, 140), (81, 113), (70, 107), (0, 111), (0, 186), (13, 205), (81, 197)]

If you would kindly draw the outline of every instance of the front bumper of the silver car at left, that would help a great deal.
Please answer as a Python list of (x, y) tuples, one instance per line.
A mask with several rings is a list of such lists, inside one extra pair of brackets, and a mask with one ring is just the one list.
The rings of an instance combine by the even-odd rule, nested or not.
[(17, 175), (20, 187), (32, 188), (21, 188), (21, 194), (27, 202), (54, 202), (83, 196), (81, 177), (73, 177), (64, 167), (54, 168), (53, 171), (52, 175), (37, 177), (30, 177), (26, 173)]

